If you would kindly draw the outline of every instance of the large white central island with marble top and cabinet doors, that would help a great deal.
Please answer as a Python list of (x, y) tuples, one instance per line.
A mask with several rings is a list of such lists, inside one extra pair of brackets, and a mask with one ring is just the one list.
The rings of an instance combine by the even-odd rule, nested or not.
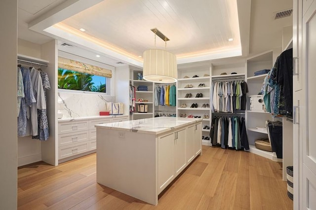
[(200, 118), (96, 125), (97, 182), (149, 204), (202, 153)]

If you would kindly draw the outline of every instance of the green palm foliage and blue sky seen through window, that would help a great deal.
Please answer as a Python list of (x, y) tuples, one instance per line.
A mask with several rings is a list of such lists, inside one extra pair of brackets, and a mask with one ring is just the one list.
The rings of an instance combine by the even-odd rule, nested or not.
[(58, 68), (58, 88), (106, 93), (106, 77)]

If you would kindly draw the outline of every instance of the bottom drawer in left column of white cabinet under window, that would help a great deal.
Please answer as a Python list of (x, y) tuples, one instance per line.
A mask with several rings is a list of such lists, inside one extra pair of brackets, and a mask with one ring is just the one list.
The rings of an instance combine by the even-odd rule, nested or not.
[(58, 158), (63, 159), (73, 155), (89, 151), (89, 141), (70, 144), (59, 147)]

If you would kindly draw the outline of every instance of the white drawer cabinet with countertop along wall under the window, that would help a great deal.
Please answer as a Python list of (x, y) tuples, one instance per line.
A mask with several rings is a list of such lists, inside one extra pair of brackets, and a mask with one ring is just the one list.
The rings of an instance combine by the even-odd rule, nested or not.
[(127, 116), (69, 120), (58, 123), (58, 159), (64, 162), (96, 149), (95, 125), (128, 120)]

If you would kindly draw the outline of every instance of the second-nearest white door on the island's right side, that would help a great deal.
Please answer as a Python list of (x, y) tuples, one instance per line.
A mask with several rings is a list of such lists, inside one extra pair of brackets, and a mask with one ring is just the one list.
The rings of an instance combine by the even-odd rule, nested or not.
[(176, 176), (182, 172), (186, 166), (186, 128), (178, 130), (176, 132), (175, 140), (175, 164), (176, 164)]

